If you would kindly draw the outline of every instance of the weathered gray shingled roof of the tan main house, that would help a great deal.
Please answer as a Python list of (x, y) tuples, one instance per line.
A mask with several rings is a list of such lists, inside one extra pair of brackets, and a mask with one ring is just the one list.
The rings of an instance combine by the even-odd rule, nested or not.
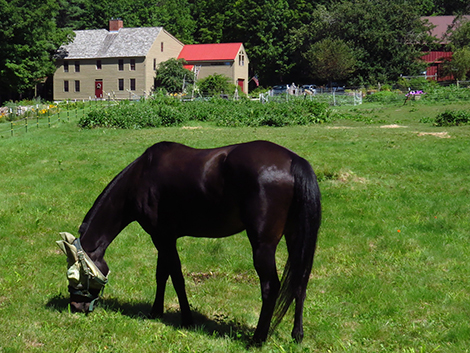
[(138, 57), (147, 55), (162, 27), (75, 31), (72, 43), (59, 49), (64, 59)]

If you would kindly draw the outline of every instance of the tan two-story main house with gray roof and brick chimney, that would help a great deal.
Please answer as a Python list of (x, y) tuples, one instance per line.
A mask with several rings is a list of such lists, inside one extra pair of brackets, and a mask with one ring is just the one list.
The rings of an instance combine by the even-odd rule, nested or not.
[(158, 64), (178, 57), (183, 46), (162, 27), (124, 28), (122, 20), (111, 20), (109, 31), (75, 31), (57, 55), (54, 100), (146, 96)]

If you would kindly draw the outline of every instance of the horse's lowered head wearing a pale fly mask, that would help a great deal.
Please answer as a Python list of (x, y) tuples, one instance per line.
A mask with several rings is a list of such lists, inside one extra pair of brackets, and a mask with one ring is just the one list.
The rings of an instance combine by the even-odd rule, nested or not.
[(70, 307), (74, 312), (91, 312), (108, 278), (83, 251), (80, 239), (70, 233), (60, 235), (63, 240), (57, 245), (67, 256)]

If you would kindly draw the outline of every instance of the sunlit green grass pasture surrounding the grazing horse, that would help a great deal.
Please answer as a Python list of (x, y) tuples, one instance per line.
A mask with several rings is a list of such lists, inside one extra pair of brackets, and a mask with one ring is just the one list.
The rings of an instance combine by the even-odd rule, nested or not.
[[(81, 130), (0, 139), (0, 352), (467, 352), (470, 349), (470, 126), (430, 119), (470, 104), (340, 107), (361, 118), (308, 127)], [(421, 122), (420, 122), (421, 121)], [(423, 122), (425, 121), (425, 122)], [(7, 134), (8, 135), (8, 134)], [(247, 348), (261, 306), (244, 234), (178, 243), (197, 326), (178, 326), (168, 286), (150, 320), (156, 250), (136, 224), (111, 244), (103, 300), (71, 314), (58, 233), (77, 235), (107, 183), (153, 143), (198, 148), (254, 139), (307, 158), (320, 180), (323, 222), (305, 307), (262, 348)], [(281, 270), (286, 258), (278, 251)]]

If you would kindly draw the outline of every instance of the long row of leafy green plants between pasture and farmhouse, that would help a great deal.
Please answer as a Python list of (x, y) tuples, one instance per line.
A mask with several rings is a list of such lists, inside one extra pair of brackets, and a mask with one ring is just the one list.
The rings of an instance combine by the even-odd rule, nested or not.
[(309, 100), (260, 104), (249, 100), (181, 102), (159, 97), (131, 104), (122, 102), (89, 112), (79, 121), (82, 128), (178, 126), (189, 120), (212, 122), (218, 126), (289, 126), (322, 123), (331, 119), (328, 104)]

